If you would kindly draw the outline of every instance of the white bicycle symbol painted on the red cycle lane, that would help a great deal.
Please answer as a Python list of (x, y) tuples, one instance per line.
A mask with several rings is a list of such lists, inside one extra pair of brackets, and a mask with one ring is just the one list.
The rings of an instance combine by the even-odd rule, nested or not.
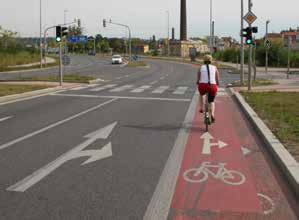
[[(212, 165), (210, 162), (203, 162), (198, 168), (186, 170), (183, 173), (183, 177), (186, 181), (191, 183), (207, 181), (209, 175), (229, 185), (241, 185), (245, 182), (246, 178), (244, 174), (235, 170), (227, 170), (225, 165), (226, 163)], [(213, 168), (218, 168), (217, 173), (212, 171)]]

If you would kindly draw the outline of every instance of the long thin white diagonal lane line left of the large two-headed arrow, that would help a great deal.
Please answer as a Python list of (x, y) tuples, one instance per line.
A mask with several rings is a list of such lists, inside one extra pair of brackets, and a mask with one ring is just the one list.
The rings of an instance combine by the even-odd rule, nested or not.
[(5, 148), (8, 148), (8, 147), (10, 147), (10, 146), (12, 146), (12, 145), (14, 145), (14, 144), (17, 144), (17, 143), (19, 143), (19, 142), (21, 142), (21, 141), (23, 141), (23, 140), (26, 140), (26, 139), (31, 138), (31, 137), (33, 137), (33, 136), (35, 136), (35, 135), (38, 135), (38, 134), (40, 134), (40, 133), (42, 133), (42, 132), (45, 132), (45, 131), (47, 131), (47, 130), (49, 130), (49, 129), (51, 129), (51, 128), (54, 128), (54, 127), (56, 127), (56, 126), (58, 126), (58, 125), (64, 124), (64, 123), (66, 123), (66, 122), (68, 122), (68, 121), (71, 121), (71, 120), (73, 120), (73, 119), (75, 119), (75, 118), (78, 118), (78, 117), (80, 117), (80, 116), (82, 116), (82, 115), (85, 115), (85, 114), (87, 114), (87, 113), (89, 113), (89, 112), (91, 112), (91, 111), (94, 111), (94, 110), (96, 110), (96, 109), (99, 109), (99, 108), (101, 108), (101, 107), (104, 106), (104, 105), (107, 105), (107, 104), (109, 104), (109, 103), (111, 103), (111, 102), (114, 102), (115, 100), (117, 100), (117, 98), (113, 98), (113, 99), (111, 99), (111, 100), (109, 100), (109, 101), (107, 101), (107, 102), (104, 102), (104, 103), (99, 104), (99, 105), (97, 105), (97, 106), (95, 106), (95, 107), (89, 108), (89, 109), (87, 109), (87, 110), (85, 110), (85, 111), (83, 111), (83, 112), (80, 112), (80, 113), (78, 113), (78, 114), (75, 114), (75, 115), (73, 115), (73, 116), (71, 116), (71, 117), (69, 117), (69, 118), (66, 118), (66, 119), (64, 119), (64, 120), (58, 121), (58, 122), (56, 122), (56, 123), (53, 123), (53, 124), (51, 124), (51, 125), (49, 125), (49, 126), (47, 126), (47, 127), (44, 127), (44, 128), (42, 128), (42, 129), (40, 129), (40, 130), (34, 131), (34, 132), (30, 133), (30, 134), (27, 134), (27, 135), (25, 135), (25, 136), (23, 136), (23, 137), (20, 137), (20, 138), (17, 138), (17, 139), (15, 139), (15, 140), (13, 140), (13, 141), (10, 141), (10, 142), (7, 142), (7, 143), (5, 143), (5, 144), (2, 144), (2, 145), (0, 145), (0, 150), (3, 150), (3, 149), (5, 149)]

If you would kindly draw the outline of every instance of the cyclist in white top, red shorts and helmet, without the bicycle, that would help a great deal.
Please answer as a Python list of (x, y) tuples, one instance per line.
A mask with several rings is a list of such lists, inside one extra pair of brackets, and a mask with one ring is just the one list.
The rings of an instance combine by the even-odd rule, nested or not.
[(217, 94), (217, 85), (219, 85), (219, 71), (212, 65), (212, 56), (204, 56), (204, 65), (200, 67), (197, 73), (197, 85), (200, 93), (199, 104), (200, 112), (203, 113), (205, 94), (208, 93), (209, 112), (212, 123), (215, 122), (215, 97)]

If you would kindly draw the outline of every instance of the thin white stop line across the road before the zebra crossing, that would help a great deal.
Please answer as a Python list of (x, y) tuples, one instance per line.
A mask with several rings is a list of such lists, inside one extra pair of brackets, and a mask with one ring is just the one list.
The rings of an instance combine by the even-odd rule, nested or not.
[(103, 95), (79, 95), (79, 94), (61, 94), (53, 93), (52, 96), (67, 96), (67, 97), (84, 97), (84, 98), (105, 98), (105, 99), (129, 99), (129, 100), (156, 100), (156, 101), (176, 101), (190, 102), (190, 99), (175, 99), (175, 98), (157, 98), (157, 97), (133, 97), (133, 96), (103, 96)]

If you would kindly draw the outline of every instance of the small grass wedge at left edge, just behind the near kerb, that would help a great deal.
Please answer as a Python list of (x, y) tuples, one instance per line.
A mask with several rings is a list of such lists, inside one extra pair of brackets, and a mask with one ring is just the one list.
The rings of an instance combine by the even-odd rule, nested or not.
[(6, 95), (20, 94), (24, 92), (31, 92), (34, 90), (46, 89), (49, 86), (41, 85), (12, 85), (12, 84), (1, 84), (0, 86), (0, 97)]

